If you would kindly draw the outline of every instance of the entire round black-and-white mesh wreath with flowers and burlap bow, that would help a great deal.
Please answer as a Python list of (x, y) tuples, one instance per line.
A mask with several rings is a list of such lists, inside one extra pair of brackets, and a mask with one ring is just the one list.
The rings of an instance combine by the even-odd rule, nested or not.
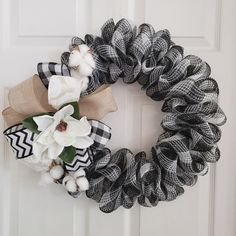
[[(39, 63), (37, 69), (10, 90), (3, 116), (11, 126), (4, 134), (16, 157), (41, 171), (44, 182), (62, 184), (73, 197), (86, 191), (103, 212), (130, 208), (136, 200), (142, 206), (174, 200), (220, 157), (219, 126), (226, 117), (218, 85), (209, 65), (184, 56), (168, 30), (110, 19), (101, 36), (72, 38), (61, 64)], [(105, 85), (119, 78), (164, 101), (164, 132), (149, 159), (144, 152), (105, 148), (111, 129), (99, 121), (105, 114), (99, 110), (113, 99)]]

